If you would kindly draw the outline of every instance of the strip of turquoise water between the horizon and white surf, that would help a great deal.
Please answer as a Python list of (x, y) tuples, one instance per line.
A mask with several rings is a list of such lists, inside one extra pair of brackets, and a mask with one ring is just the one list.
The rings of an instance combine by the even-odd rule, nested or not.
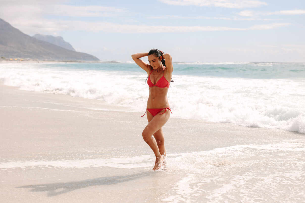
[[(42, 64), (44, 68), (58, 68), (59, 64)], [(109, 70), (143, 72), (135, 63), (72, 63), (61, 68), (74, 70)], [(305, 63), (174, 63), (175, 75), (241, 77), (241, 78), (293, 78), (305, 77)]]

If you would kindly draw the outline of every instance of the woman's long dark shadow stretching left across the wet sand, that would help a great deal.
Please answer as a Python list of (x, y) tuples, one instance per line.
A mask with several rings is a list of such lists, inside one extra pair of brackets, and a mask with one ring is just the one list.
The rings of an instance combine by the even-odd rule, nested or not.
[[(152, 172), (136, 173), (125, 176), (107, 176), (102, 178), (88, 179), (82, 181), (73, 181), (66, 183), (50, 183), (50, 184), (39, 184), (39, 185), (25, 185), (17, 188), (32, 188), (30, 192), (48, 192), (47, 196), (56, 196), (59, 194), (64, 194), (70, 191), (74, 191), (80, 188), (95, 186), (95, 185), (112, 185), (117, 183), (122, 183), (130, 180), (135, 180), (148, 176)], [(63, 189), (61, 191), (56, 191)]]

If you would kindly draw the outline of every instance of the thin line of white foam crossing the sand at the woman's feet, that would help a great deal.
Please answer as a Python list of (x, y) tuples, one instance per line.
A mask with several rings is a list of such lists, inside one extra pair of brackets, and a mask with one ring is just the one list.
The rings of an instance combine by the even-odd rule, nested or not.
[[(170, 170), (184, 170), (193, 173), (200, 173), (210, 167), (231, 166), (239, 162), (240, 158), (256, 156), (257, 152), (304, 152), (304, 141), (279, 142), (276, 144), (264, 145), (236, 145), (223, 148), (215, 148), (208, 151), (191, 153), (167, 154), (167, 162)], [(3, 162), (1, 169), (24, 168), (35, 166), (53, 166), (59, 168), (84, 168), (84, 167), (112, 167), (112, 168), (142, 168), (150, 167), (154, 162), (151, 155), (120, 158), (96, 158), (85, 160), (56, 160), (56, 161), (25, 161), (25, 162)]]

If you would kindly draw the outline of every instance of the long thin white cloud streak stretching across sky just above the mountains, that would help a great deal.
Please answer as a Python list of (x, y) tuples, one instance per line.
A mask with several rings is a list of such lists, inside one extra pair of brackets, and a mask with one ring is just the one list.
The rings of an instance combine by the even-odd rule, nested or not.
[[(262, 25), (253, 25), (247, 28), (239, 27), (214, 27), (214, 26), (148, 26), (148, 25), (131, 25), (116, 24), (109, 22), (88, 22), (88, 21), (64, 21), (64, 20), (36, 20), (23, 21), (24, 27), (40, 33), (58, 32), (63, 30), (86, 30), (91, 32), (108, 32), (108, 33), (177, 33), (177, 32), (200, 32), (200, 31), (225, 31), (225, 30), (268, 30), (279, 27), (285, 27), (290, 23), (271, 23)], [(21, 29), (23, 31), (23, 29)]]

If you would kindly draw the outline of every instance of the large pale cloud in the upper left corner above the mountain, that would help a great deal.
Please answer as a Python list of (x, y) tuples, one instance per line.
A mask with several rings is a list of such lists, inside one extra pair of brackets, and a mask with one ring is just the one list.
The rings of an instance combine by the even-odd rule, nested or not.
[[(10, 0), (1, 2), (0, 18), (27, 34), (53, 34), (71, 28), (68, 21), (44, 18), (50, 16), (109, 17), (128, 14), (126, 9), (105, 6), (59, 5), (59, 0)], [(64, 2), (64, 1), (60, 1)], [(49, 17), (50, 18), (50, 17)], [(73, 22), (72, 22), (73, 23)]]

